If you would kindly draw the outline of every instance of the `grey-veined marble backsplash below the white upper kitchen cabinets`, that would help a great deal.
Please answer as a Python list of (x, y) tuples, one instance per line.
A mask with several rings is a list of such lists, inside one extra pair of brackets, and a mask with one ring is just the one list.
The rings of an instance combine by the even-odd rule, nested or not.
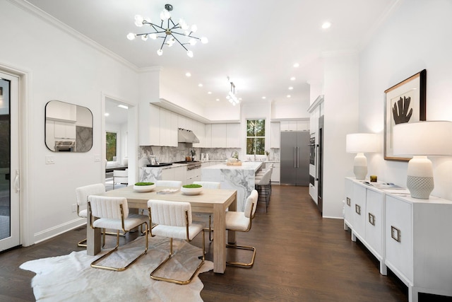
[[(242, 150), (237, 148), (197, 148), (188, 147), (186, 144), (178, 144), (177, 147), (165, 146), (140, 146), (138, 149), (138, 167), (145, 167), (150, 163), (150, 158), (155, 156), (159, 163), (172, 163), (174, 161), (185, 161), (186, 156), (191, 156), (190, 151), (196, 151), (196, 161), (201, 160), (201, 153), (208, 153), (210, 161), (225, 161), (230, 158), (233, 151), (238, 151), (239, 159), (242, 161), (254, 160), (253, 156), (243, 156)], [(270, 149), (268, 159), (270, 161), (280, 160), (280, 149)], [(257, 156), (264, 158), (266, 156)]]

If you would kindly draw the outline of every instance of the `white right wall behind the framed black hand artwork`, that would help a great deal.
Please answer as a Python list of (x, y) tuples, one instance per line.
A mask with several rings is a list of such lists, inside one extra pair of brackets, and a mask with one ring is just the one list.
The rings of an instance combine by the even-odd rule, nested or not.
[[(427, 69), (427, 120), (452, 120), (452, 1), (404, 0), (364, 48), (359, 59), (359, 130), (381, 133), (387, 88)], [(451, 139), (445, 138), (445, 139)], [(367, 155), (369, 173), (406, 186), (408, 163)], [(432, 195), (452, 199), (452, 158), (430, 158)]]

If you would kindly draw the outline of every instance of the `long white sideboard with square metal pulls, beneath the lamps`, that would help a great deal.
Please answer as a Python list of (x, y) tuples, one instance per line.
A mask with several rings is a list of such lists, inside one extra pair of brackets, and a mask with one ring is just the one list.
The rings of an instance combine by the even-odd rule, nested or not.
[(381, 274), (389, 268), (403, 281), (408, 301), (452, 296), (452, 202), (381, 184), (345, 178), (345, 230), (380, 261)]

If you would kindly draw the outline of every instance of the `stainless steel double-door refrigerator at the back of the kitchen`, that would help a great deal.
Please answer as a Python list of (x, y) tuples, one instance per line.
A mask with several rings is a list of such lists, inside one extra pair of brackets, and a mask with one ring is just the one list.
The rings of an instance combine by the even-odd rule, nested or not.
[(309, 185), (309, 131), (281, 132), (281, 185)]

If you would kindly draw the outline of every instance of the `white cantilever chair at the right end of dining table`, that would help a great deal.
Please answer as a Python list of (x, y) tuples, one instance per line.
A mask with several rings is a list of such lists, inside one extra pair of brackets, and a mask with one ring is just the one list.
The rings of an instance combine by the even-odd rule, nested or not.
[[(256, 214), (258, 192), (252, 190), (249, 197), (246, 198), (244, 211), (227, 211), (226, 212), (226, 230), (236, 232), (248, 232), (251, 230), (251, 221)], [(256, 257), (256, 248), (247, 245), (238, 245), (237, 243), (228, 243), (226, 248), (236, 248), (239, 250), (251, 250), (251, 261), (244, 262), (226, 262), (227, 265), (234, 267), (252, 267), (254, 265), (254, 258)]]

